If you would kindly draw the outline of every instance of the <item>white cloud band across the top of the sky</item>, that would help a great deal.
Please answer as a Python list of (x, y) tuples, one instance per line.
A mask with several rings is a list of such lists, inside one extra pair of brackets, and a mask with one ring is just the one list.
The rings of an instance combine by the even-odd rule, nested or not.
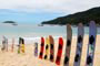
[(0, 0), (0, 9), (19, 12), (73, 13), (99, 6), (99, 0)]

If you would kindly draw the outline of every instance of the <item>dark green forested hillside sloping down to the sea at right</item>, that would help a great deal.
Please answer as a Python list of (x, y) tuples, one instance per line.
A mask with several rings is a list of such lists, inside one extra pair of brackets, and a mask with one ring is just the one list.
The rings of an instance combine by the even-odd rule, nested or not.
[(77, 25), (79, 22), (82, 22), (83, 24), (88, 25), (91, 20), (96, 21), (96, 23), (100, 25), (100, 7), (89, 9), (87, 11), (78, 12), (74, 14), (60, 16), (50, 21), (44, 21), (41, 24), (64, 25), (67, 23), (70, 23)]

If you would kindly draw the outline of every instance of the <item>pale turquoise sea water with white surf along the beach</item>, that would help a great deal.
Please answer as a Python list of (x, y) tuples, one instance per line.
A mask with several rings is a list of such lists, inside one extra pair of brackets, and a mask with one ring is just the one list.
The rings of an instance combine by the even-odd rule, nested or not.
[[(98, 34), (100, 34), (100, 28), (98, 28)], [(72, 26), (72, 35), (77, 36), (78, 26)], [(89, 28), (84, 26), (84, 35), (89, 34)], [(1, 24), (0, 23), (0, 44), (2, 41), (2, 36), (9, 38), (11, 43), (11, 38), (16, 38), (18, 42), (19, 37), (23, 37), (24, 40), (40, 40), (41, 36), (47, 37), (52, 35), (54, 38), (58, 37), (67, 37), (67, 26), (66, 25), (43, 25), (38, 26), (38, 24), (18, 24), (16, 26), (11, 24)]]

